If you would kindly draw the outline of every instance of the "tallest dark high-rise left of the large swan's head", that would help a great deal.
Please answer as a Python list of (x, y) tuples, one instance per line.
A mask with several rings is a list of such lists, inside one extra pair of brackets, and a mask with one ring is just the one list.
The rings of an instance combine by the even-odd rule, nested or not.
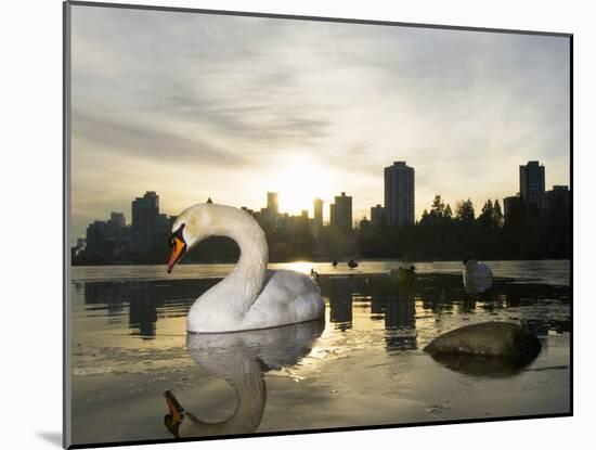
[(132, 201), (132, 252), (146, 256), (154, 246), (154, 236), (159, 216), (159, 196), (147, 191)]

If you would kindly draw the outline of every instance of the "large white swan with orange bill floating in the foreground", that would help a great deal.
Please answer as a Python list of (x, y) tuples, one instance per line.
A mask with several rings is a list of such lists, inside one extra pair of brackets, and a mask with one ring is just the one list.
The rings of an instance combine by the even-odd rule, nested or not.
[(183, 210), (172, 226), (168, 272), (190, 248), (210, 236), (238, 244), (236, 267), (198, 297), (186, 318), (191, 333), (259, 330), (322, 319), (325, 303), (316, 283), (289, 270), (267, 270), (269, 249), (262, 229), (248, 213), (204, 203)]

